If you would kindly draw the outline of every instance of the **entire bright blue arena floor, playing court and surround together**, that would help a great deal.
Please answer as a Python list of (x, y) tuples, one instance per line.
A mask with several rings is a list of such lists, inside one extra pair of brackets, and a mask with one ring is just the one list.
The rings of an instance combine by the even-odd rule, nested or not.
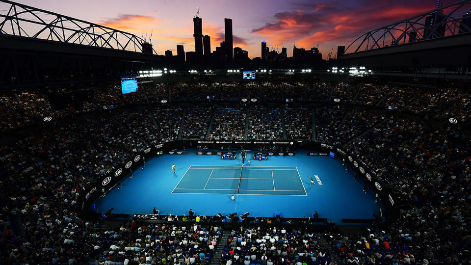
[[(188, 155), (155, 157), (146, 160), (145, 168), (137, 169), (132, 179), (124, 179), (120, 189), (115, 187), (98, 199), (96, 207), (99, 212), (113, 207), (115, 213), (131, 215), (151, 213), (154, 207), (161, 214), (183, 214), (191, 208), (201, 215), (250, 212), (250, 216), (266, 217), (275, 212), (282, 217), (312, 216), (317, 211), (319, 217), (337, 224), (343, 218), (373, 219), (378, 214), (381, 202), (374, 202), (370, 189), (367, 194), (362, 191), (362, 179), (354, 182), (352, 171), (347, 172), (339, 159), (294, 152), (294, 157), (251, 159), (242, 171), (240, 194), (240, 154), (235, 160), (223, 160), (188, 150)], [(251, 155), (248, 152), (247, 157)], [(307, 175), (317, 175), (322, 185), (314, 177), (315, 185), (310, 186)], [(230, 199), (232, 194), (235, 201)]]

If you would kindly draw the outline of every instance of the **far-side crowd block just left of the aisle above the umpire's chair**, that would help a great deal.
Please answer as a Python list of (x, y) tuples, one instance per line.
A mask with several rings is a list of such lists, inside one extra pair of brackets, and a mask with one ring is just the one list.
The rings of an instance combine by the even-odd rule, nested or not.
[(246, 110), (240, 108), (220, 108), (212, 119), (208, 139), (243, 140)]

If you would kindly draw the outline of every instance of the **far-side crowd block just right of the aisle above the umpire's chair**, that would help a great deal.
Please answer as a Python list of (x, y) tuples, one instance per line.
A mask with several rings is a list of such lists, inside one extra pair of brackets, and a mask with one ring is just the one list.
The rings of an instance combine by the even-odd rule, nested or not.
[(283, 140), (283, 126), (278, 108), (251, 108), (249, 111), (249, 140)]

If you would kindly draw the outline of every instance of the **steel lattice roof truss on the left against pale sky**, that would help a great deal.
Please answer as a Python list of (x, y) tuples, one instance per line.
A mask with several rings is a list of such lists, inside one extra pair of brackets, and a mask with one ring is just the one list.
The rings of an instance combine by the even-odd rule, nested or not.
[(8, 0), (0, 0), (2, 34), (140, 53), (145, 43), (128, 32)]

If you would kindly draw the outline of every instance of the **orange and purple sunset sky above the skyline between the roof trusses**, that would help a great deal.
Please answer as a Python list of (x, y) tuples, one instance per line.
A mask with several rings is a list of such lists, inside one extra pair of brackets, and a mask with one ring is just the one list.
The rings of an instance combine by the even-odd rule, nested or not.
[[(261, 42), (270, 48), (319, 47), (324, 59), (337, 45), (348, 46), (367, 30), (417, 15), (435, 0), (18, 0), (59, 14), (146, 35), (151, 31), (158, 54), (194, 51), (193, 17), (198, 7), (203, 34), (211, 51), (224, 40), (224, 18), (233, 20), (234, 47), (260, 56)], [(453, 3), (445, 0), (444, 4)]]

